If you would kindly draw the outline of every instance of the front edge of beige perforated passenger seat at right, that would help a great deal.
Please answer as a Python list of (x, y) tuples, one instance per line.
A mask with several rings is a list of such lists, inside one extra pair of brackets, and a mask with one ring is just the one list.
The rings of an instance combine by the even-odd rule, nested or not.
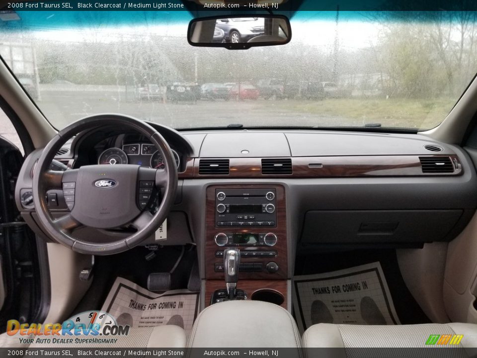
[(425, 344), (430, 335), (464, 335), (460, 347), (477, 347), (477, 325), (470, 323), (401, 326), (320, 323), (306, 330), (303, 345), (305, 348), (425, 348), (431, 347)]

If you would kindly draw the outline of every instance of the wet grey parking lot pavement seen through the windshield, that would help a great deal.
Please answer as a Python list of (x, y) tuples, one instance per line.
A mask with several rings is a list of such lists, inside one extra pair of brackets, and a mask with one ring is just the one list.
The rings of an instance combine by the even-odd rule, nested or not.
[(277, 100), (274, 99), (164, 103), (161, 99), (134, 100), (127, 97), (124, 91), (50, 90), (42, 91), (37, 103), (56, 128), (63, 128), (79, 118), (98, 113), (127, 114), (172, 128), (227, 126), (236, 123), (244, 126), (336, 124), (336, 118), (279, 109), (276, 106)]

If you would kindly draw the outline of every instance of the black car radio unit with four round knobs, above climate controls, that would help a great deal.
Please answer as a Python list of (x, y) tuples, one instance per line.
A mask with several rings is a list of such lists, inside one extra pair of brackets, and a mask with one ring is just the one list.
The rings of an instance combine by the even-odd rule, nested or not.
[(215, 226), (276, 227), (276, 189), (216, 189)]

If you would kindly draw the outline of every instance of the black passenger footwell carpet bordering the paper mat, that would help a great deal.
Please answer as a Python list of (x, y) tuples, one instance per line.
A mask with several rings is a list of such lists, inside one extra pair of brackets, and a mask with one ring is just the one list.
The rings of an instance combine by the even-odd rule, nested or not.
[(377, 261), (381, 264), (388, 282), (400, 323), (430, 323), (431, 321), (422, 312), (402, 279), (395, 250), (379, 250), (379, 252), (377, 250), (353, 250), (300, 255), (296, 260), (295, 275), (336, 271)]

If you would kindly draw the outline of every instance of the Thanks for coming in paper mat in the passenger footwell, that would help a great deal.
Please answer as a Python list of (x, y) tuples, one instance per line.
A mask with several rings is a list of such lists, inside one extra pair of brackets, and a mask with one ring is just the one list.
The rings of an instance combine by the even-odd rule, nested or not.
[(293, 304), (302, 332), (316, 323), (399, 324), (379, 262), (295, 276)]

